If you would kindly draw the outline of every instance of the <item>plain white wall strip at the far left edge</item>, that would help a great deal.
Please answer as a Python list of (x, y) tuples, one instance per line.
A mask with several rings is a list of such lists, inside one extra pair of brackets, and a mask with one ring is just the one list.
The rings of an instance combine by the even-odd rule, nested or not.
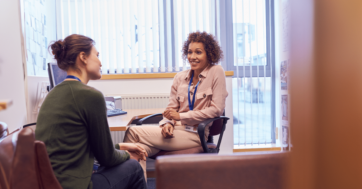
[(26, 124), (20, 4), (18, 0), (1, 0), (0, 25), (0, 100), (13, 100), (12, 106), (0, 112), (0, 121), (7, 123), (11, 132)]

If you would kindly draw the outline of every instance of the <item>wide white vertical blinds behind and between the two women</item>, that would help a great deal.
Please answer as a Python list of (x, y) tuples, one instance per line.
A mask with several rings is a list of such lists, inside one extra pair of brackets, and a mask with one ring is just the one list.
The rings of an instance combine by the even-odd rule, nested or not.
[(196, 30), (214, 35), (218, 31), (219, 16), (215, 12), (218, 13), (219, 0), (58, 2), (58, 38), (81, 34), (95, 40), (102, 74), (188, 69), (189, 64), (181, 59), (181, 46), (187, 35)]

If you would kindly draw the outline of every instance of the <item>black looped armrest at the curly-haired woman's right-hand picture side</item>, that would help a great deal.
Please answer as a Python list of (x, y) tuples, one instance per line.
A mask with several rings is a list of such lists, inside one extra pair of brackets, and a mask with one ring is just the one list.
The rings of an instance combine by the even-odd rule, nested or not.
[(206, 127), (206, 125), (211, 123), (212, 121), (215, 121), (215, 120), (218, 120), (218, 119), (223, 119), (223, 126), (222, 126), (222, 130), (221, 130), (220, 137), (219, 137), (219, 141), (221, 141), (222, 134), (224, 133), (227, 120), (229, 120), (230, 118), (225, 117), (225, 116), (209, 118), (209, 119), (206, 119), (206, 120), (202, 121), (197, 126), (197, 133), (199, 134), (200, 141), (201, 141), (201, 146), (202, 146), (202, 149), (204, 150), (205, 153), (218, 153), (219, 152), (220, 142), (218, 142), (218, 146), (217, 146), (217, 148), (215, 150), (210, 150), (207, 147), (207, 143), (206, 143), (206, 140), (205, 140), (205, 127)]

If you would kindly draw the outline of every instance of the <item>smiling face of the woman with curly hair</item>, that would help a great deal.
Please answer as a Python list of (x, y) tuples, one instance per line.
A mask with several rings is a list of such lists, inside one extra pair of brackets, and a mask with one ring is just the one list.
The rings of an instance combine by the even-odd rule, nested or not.
[(209, 65), (205, 48), (201, 42), (193, 42), (189, 44), (187, 59), (189, 60), (191, 69), (198, 74), (201, 73), (207, 65)]

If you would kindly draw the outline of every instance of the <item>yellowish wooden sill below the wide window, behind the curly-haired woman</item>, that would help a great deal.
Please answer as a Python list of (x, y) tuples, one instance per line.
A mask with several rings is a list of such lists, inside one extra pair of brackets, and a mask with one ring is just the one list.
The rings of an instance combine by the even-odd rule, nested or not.
[[(173, 78), (177, 72), (171, 73), (124, 73), (102, 74), (101, 80), (139, 79), (139, 78)], [(225, 71), (225, 76), (233, 76), (233, 71)]]

